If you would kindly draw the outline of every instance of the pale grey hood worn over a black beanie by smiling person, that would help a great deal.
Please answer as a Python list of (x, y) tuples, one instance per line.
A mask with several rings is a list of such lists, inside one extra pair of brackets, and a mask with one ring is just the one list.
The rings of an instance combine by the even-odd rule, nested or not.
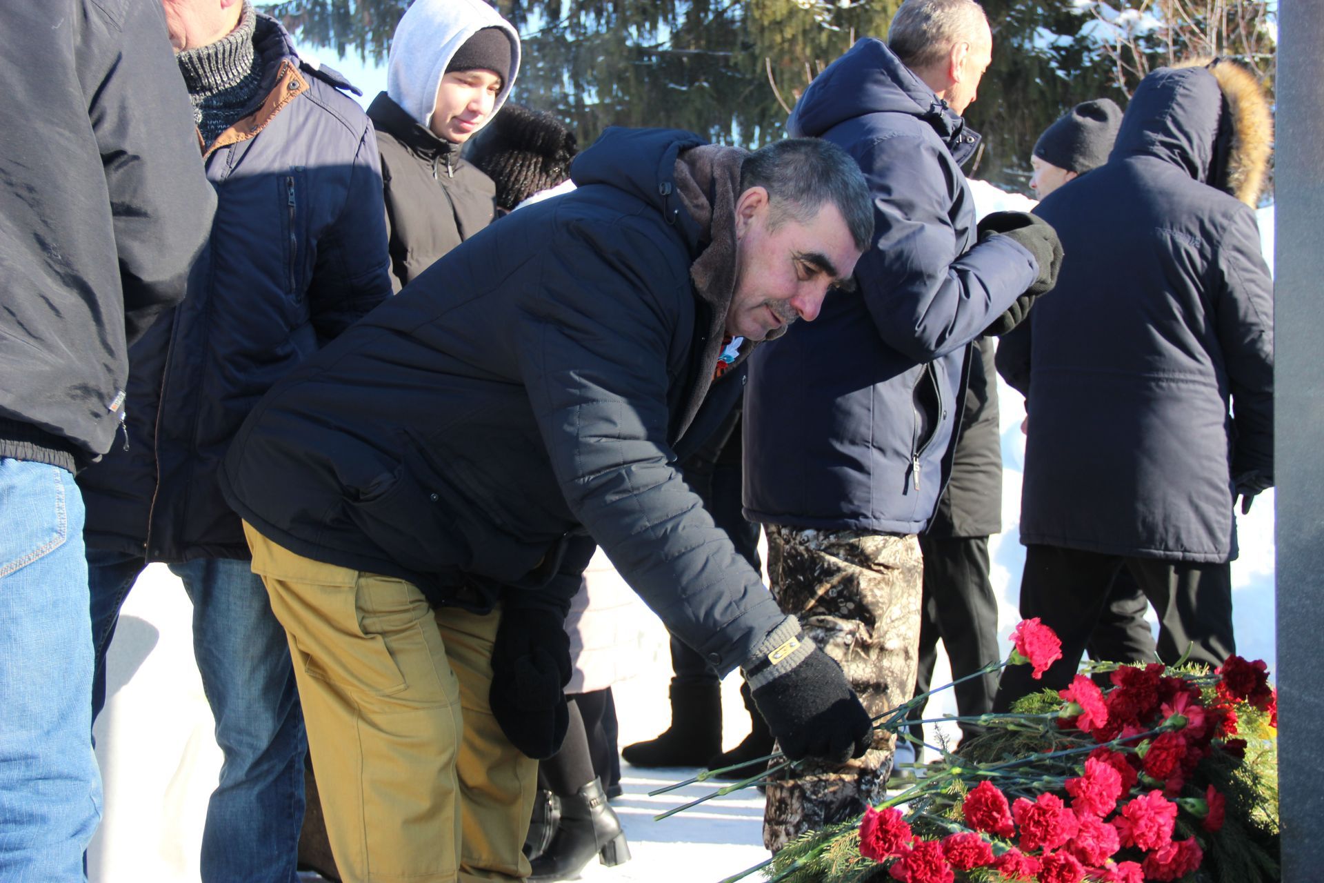
[(417, 0), (410, 5), (391, 40), (387, 94), (428, 128), (446, 65), (465, 41), (483, 28), (500, 28), (511, 42), (510, 71), (493, 106), (493, 114), (496, 114), (519, 73), (519, 34), (483, 0)]

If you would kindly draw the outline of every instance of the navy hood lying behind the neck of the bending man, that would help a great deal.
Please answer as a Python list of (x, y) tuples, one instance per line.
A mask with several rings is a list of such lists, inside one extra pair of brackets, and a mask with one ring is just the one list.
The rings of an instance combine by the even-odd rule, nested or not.
[(675, 183), (681, 151), (707, 142), (679, 128), (622, 128), (612, 126), (575, 158), (571, 180), (576, 187), (609, 184), (657, 208), (677, 226), (690, 252), (704, 245), (704, 230), (685, 207)]

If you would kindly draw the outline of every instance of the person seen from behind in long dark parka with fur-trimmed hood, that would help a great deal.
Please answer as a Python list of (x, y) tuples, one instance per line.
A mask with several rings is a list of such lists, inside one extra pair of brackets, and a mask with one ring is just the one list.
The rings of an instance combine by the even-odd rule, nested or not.
[(1057, 294), (1002, 340), (1026, 393), (1021, 613), (1062, 638), (1042, 680), (1002, 676), (996, 707), (1075, 673), (1123, 567), (1158, 613), (1158, 657), (1234, 651), (1234, 502), (1274, 479), (1272, 286), (1254, 205), (1272, 124), (1245, 68), (1164, 68), (1136, 89), (1108, 163), (1038, 212), (1067, 258)]

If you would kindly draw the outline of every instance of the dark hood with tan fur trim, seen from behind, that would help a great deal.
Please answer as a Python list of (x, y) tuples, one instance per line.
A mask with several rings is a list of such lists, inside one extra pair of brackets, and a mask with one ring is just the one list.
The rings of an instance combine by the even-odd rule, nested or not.
[(1254, 208), (1274, 123), (1268, 98), (1241, 65), (1215, 60), (1160, 68), (1136, 87), (1110, 159), (1152, 156)]

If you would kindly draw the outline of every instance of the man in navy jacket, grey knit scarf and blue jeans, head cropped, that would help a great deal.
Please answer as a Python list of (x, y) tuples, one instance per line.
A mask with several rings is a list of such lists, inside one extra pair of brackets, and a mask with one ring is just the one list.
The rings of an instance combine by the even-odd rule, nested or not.
[[(335, 71), (299, 58), (252, 4), (189, 0), (171, 16), (217, 199), (188, 298), (130, 353), (127, 445), (79, 477), (98, 675), (150, 561), (184, 581), (225, 755), (208, 804), (204, 880), (295, 879), (306, 740), (279, 622), (216, 474), (257, 400), (391, 297), (372, 126)], [(126, 450), (127, 447), (127, 450)]]

